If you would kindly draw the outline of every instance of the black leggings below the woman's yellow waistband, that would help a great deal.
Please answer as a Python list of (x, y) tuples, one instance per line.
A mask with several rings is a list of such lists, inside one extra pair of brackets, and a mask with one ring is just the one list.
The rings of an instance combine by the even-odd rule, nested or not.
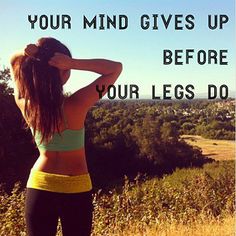
[(58, 218), (63, 236), (89, 236), (92, 226), (92, 193), (55, 193), (27, 188), (27, 235), (54, 236)]

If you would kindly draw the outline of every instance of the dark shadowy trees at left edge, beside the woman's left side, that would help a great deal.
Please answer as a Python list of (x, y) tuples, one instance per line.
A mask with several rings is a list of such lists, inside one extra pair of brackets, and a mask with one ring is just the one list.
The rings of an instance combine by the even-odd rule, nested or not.
[[(9, 87), (10, 70), (0, 71), (0, 183), (10, 190), (16, 181), (26, 181), (37, 150)], [(24, 174), (22, 174), (24, 173)]]

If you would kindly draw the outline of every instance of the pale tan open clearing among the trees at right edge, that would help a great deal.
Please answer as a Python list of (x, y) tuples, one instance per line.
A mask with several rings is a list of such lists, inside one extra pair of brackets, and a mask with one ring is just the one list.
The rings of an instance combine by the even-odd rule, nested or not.
[(198, 135), (183, 135), (182, 138), (188, 144), (200, 147), (203, 155), (217, 161), (235, 160), (235, 141), (206, 139)]

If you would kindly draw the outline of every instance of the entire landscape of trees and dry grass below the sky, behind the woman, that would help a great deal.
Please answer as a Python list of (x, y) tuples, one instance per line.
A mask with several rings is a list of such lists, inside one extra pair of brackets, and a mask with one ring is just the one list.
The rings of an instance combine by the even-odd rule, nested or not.
[[(38, 152), (10, 77), (0, 70), (0, 236), (26, 236), (24, 181)], [(234, 140), (235, 100), (102, 101), (85, 125), (92, 236), (235, 235), (235, 142), (179, 139)]]

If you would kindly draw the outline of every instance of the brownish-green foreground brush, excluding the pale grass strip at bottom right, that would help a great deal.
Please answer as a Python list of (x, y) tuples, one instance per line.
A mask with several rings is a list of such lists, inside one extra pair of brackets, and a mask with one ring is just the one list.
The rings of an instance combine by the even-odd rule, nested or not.
[[(130, 226), (142, 230), (165, 223), (204, 224), (206, 219), (233, 216), (234, 183), (234, 161), (177, 169), (159, 179), (137, 176), (130, 181), (126, 177), (123, 186), (94, 192), (93, 235), (114, 235)], [(24, 198), (18, 184), (9, 195), (1, 192), (1, 235), (25, 235)]]

